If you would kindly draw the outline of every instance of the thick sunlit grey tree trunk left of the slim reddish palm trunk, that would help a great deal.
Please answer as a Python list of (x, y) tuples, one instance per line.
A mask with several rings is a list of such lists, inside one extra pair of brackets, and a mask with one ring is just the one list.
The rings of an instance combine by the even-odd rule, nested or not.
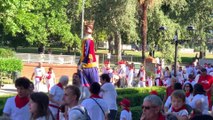
[(114, 33), (115, 35), (115, 54), (117, 55), (118, 61), (122, 59), (121, 56), (121, 35), (119, 31)]

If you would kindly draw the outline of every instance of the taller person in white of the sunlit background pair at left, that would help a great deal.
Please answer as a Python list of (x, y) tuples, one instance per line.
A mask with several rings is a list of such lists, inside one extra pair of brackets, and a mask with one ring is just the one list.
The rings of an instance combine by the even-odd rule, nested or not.
[(45, 69), (42, 67), (42, 63), (39, 62), (38, 66), (34, 69), (34, 72), (32, 74), (31, 80), (34, 78), (34, 86), (35, 91), (41, 91), (40, 84), (42, 84), (42, 80), (45, 76)]

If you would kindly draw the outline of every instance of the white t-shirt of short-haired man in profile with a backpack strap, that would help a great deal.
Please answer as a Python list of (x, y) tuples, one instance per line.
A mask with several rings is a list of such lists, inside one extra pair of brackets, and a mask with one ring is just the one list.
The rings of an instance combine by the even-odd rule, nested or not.
[[(80, 109), (80, 110), (78, 110)], [(85, 114), (85, 108), (83, 106), (75, 106), (68, 111), (69, 120), (85, 120), (87, 118)]]

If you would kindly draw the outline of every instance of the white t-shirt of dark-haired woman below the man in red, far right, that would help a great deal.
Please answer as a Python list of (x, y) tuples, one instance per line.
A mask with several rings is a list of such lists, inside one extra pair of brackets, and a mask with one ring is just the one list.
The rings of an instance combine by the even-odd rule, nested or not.
[(192, 101), (189, 103), (189, 105), (192, 108), (196, 108), (196, 103), (200, 101), (202, 103), (201, 108), (198, 108), (202, 111), (203, 114), (208, 114), (208, 97), (202, 94), (197, 94), (193, 97)]

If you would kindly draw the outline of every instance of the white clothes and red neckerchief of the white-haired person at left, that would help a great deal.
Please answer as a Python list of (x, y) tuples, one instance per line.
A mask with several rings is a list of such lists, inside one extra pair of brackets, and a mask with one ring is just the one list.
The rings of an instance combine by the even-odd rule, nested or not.
[[(53, 96), (54, 101), (63, 101), (63, 96), (64, 96), (64, 89), (61, 83), (58, 83), (54, 85), (51, 90), (50, 94)], [(49, 108), (50, 111), (52, 112), (53, 116), (55, 119), (59, 118), (59, 105), (53, 102), (49, 102)]]

